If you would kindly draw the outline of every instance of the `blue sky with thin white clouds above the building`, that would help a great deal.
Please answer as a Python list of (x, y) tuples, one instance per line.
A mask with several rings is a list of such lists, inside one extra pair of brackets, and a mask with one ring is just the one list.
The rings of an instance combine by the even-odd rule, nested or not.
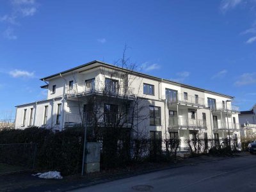
[(2, 0), (0, 118), (45, 99), (40, 77), (127, 56), (143, 72), (256, 103), (256, 1)]

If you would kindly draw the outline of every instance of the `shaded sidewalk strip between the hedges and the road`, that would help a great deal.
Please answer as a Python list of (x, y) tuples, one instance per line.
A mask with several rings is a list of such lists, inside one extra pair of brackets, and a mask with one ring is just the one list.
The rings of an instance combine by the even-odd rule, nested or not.
[[(236, 154), (234, 157), (243, 156), (250, 156), (250, 154), (248, 152), (241, 152)], [(100, 184), (103, 182), (109, 182), (111, 180), (141, 175), (144, 173), (177, 168), (180, 166), (209, 163), (212, 161), (221, 161), (223, 159), (234, 157), (200, 156), (180, 159), (177, 163), (147, 163), (140, 164), (137, 167), (129, 167), (127, 169), (91, 173), (84, 177), (68, 176), (61, 180), (39, 179), (38, 177), (31, 176), (31, 173), (2, 175), (0, 176), (0, 191), (68, 191), (94, 184)]]

